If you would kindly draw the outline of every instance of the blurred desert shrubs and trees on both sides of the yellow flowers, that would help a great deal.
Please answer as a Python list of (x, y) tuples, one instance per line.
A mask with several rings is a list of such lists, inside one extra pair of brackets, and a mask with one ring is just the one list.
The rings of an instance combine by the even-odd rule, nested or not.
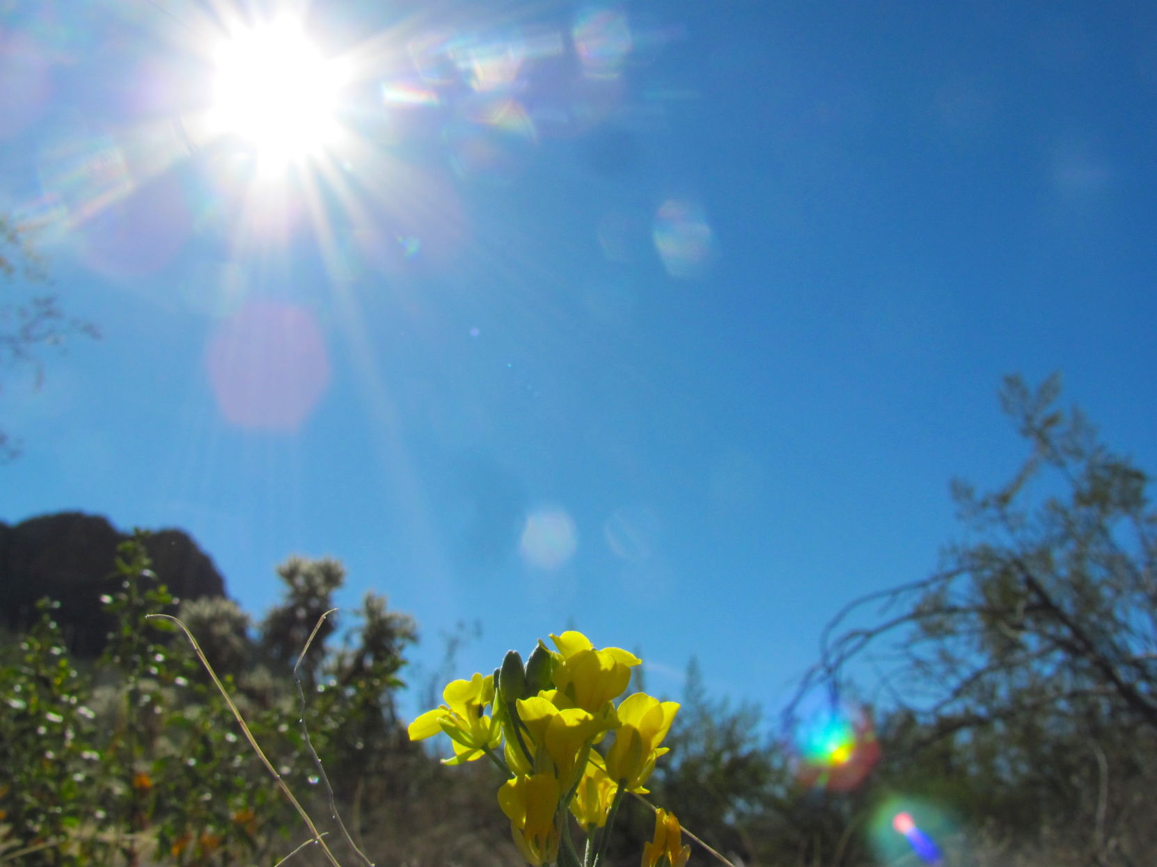
[[(849, 605), (889, 602), (884, 618), (843, 630), (835, 613), (782, 719), (713, 697), (691, 661), (657, 803), (736, 865), (1152, 862), (1157, 514), (1144, 473), (1057, 397), (1008, 380), (1023, 469), (957, 487), (970, 541), (939, 570)], [(522, 862), (501, 775), (444, 766), (397, 716), (410, 617), (369, 594), (339, 642), (332, 560), (280, 565), (256, 622), (222, 595), (177, 605), (148, 546), (109, 563), (97, 658), (51, 600), (0, 644), (0, 864), (323, 862), (189, 642), (146, 620), (164, 612), (342, 864), (363, 861), (334, 816), (378, 865)], [(871, 681), (850, 674), (864, 659)], [(625, 803), (611, 862), (638, 864), (653, 823)]]

